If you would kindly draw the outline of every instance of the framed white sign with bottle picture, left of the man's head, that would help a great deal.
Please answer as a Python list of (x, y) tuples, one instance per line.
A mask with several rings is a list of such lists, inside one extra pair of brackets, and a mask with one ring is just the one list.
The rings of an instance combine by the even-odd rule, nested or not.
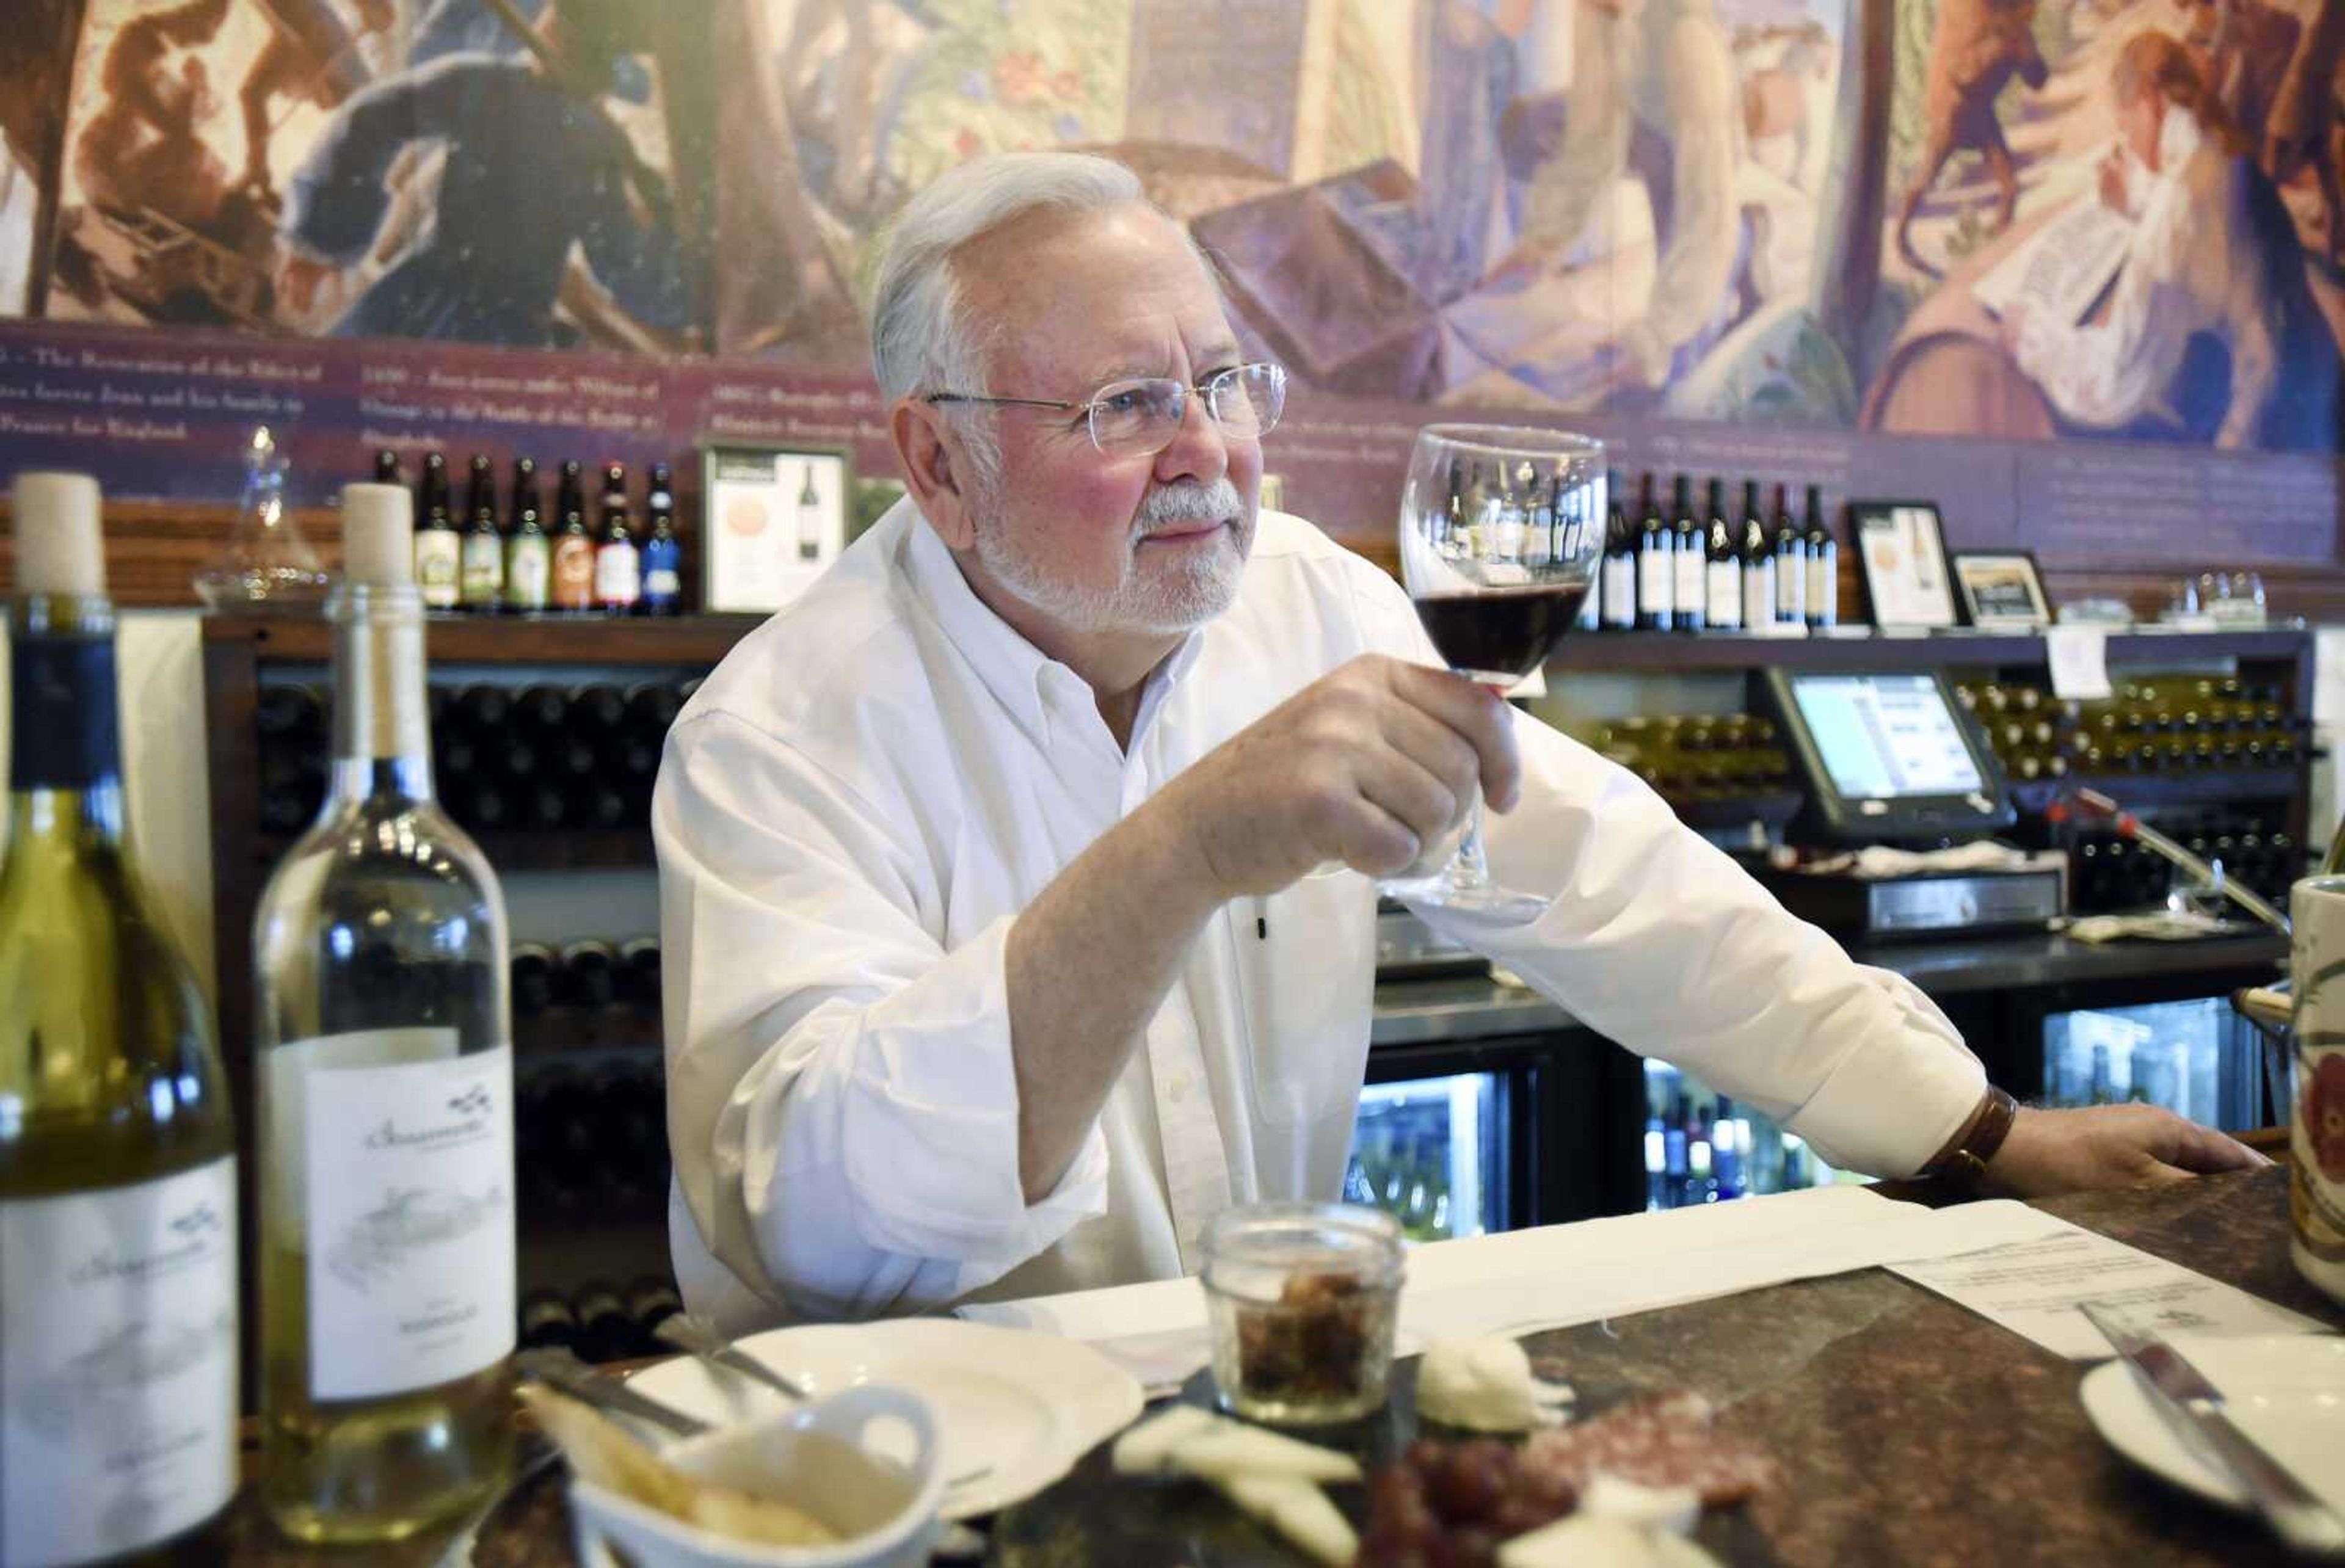
[(772, 614), (847, 548), (847, 448), (701, 445), (701, 607)]

